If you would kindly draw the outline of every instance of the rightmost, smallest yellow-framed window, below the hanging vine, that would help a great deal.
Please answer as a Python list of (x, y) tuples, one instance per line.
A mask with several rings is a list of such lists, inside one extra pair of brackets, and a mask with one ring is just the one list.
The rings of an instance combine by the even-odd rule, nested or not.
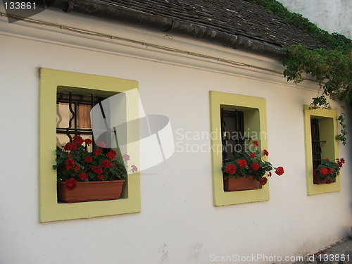
[(337, 111), (310, 109), (304, 106), (306, 137), (306, 174), (308, 194), (322, 194), (340, 190), (339, 177), (332, 184), (322, 184), (313, 170), (323, 159), (334, 161), (339, 157), (337, 135)]

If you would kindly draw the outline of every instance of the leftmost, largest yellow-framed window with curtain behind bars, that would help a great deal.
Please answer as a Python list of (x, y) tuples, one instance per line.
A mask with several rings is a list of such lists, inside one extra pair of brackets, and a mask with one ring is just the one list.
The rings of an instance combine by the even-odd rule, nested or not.
[[(91, 106), (89, 106), (87, 96), (91, 97), (90, 101), (92, 103), (92, 93), (94, 93), (94, 97), (96, 96), (97, 101), (99, 101), (118, 92), (126, 92), (137, 87), (138, 83), (132, 80), (46, 68), (40, 69), (39, 222), (93, 218), (103, 215), (118, 215), (140, 211), (141, 201), (138, 172), (128, 176), (127, 189), (125, 196), (123, 196), (122, 192), (122, 199), (84, 203), (58, 203), (56, 197), (56, 170), (52, 168), (52, 165), (55, 164), (56, 145), (58, 142), (68, 140), (67, 135), (63, 134), (63, 128), (67, 132), (69, 120), (67, 120), (67, 117), (63, 118), (63, 113), (70, 110), (70, 99), (68, 98), (70, 91), (72, 92), (71, 108), (75, 108), (75, 116), (71, 121), (71, 127), (68, 126), (68, 132), (69, 134), (87, 133), (85, 137), (92, 137), (89, 131), (89, 118), (87, 118), (87, 113), (90, 111)], [(58, 116), (58, 112), (61, 117)], [(129, 113), (129, 115), (133, 114)], [(62, 139), (61, 136), (63, 137)]]

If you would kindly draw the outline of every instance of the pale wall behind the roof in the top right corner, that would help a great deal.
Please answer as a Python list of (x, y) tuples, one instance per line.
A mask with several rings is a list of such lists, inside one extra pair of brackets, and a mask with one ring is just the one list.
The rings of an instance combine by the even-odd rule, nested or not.
[(339, 32), (351, 38), (351, 0), (278, 0), (289, 11), (300, 13), (329, 33)]

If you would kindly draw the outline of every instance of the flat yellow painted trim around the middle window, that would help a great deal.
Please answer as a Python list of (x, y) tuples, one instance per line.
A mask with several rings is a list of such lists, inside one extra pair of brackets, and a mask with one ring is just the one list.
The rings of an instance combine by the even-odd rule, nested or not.
[[(266, 102), (263, 98), (243, 96), (237, 94), (225, 94), (222, 92), (210, 92), (210, 130), (212, 168), (213, 168), (213, 201), (215, 206), (227, 206), (230, 204), (250, 203), (256, 201), (268, 201), (270, 199), (269, 183), (262, 189), (249, 191), (224, 191), (222, 182), (222, 151), (221, 151), (221, 123), (220, 106), (237, 106), (249, 111), (250, 114), (258, 113), (255, 118), (250, 118), (257, 125), (252, 125), (254, 130), (260, 132), (260, 149), (268, 149)], [(246, 115), (246, 113), (245, 113)], [(259, 118), (259, 120), (258, 120)], [(253, 120), (257, 119), (257, 120)], [(259, 121), (259, 122), (258, 122)]]

